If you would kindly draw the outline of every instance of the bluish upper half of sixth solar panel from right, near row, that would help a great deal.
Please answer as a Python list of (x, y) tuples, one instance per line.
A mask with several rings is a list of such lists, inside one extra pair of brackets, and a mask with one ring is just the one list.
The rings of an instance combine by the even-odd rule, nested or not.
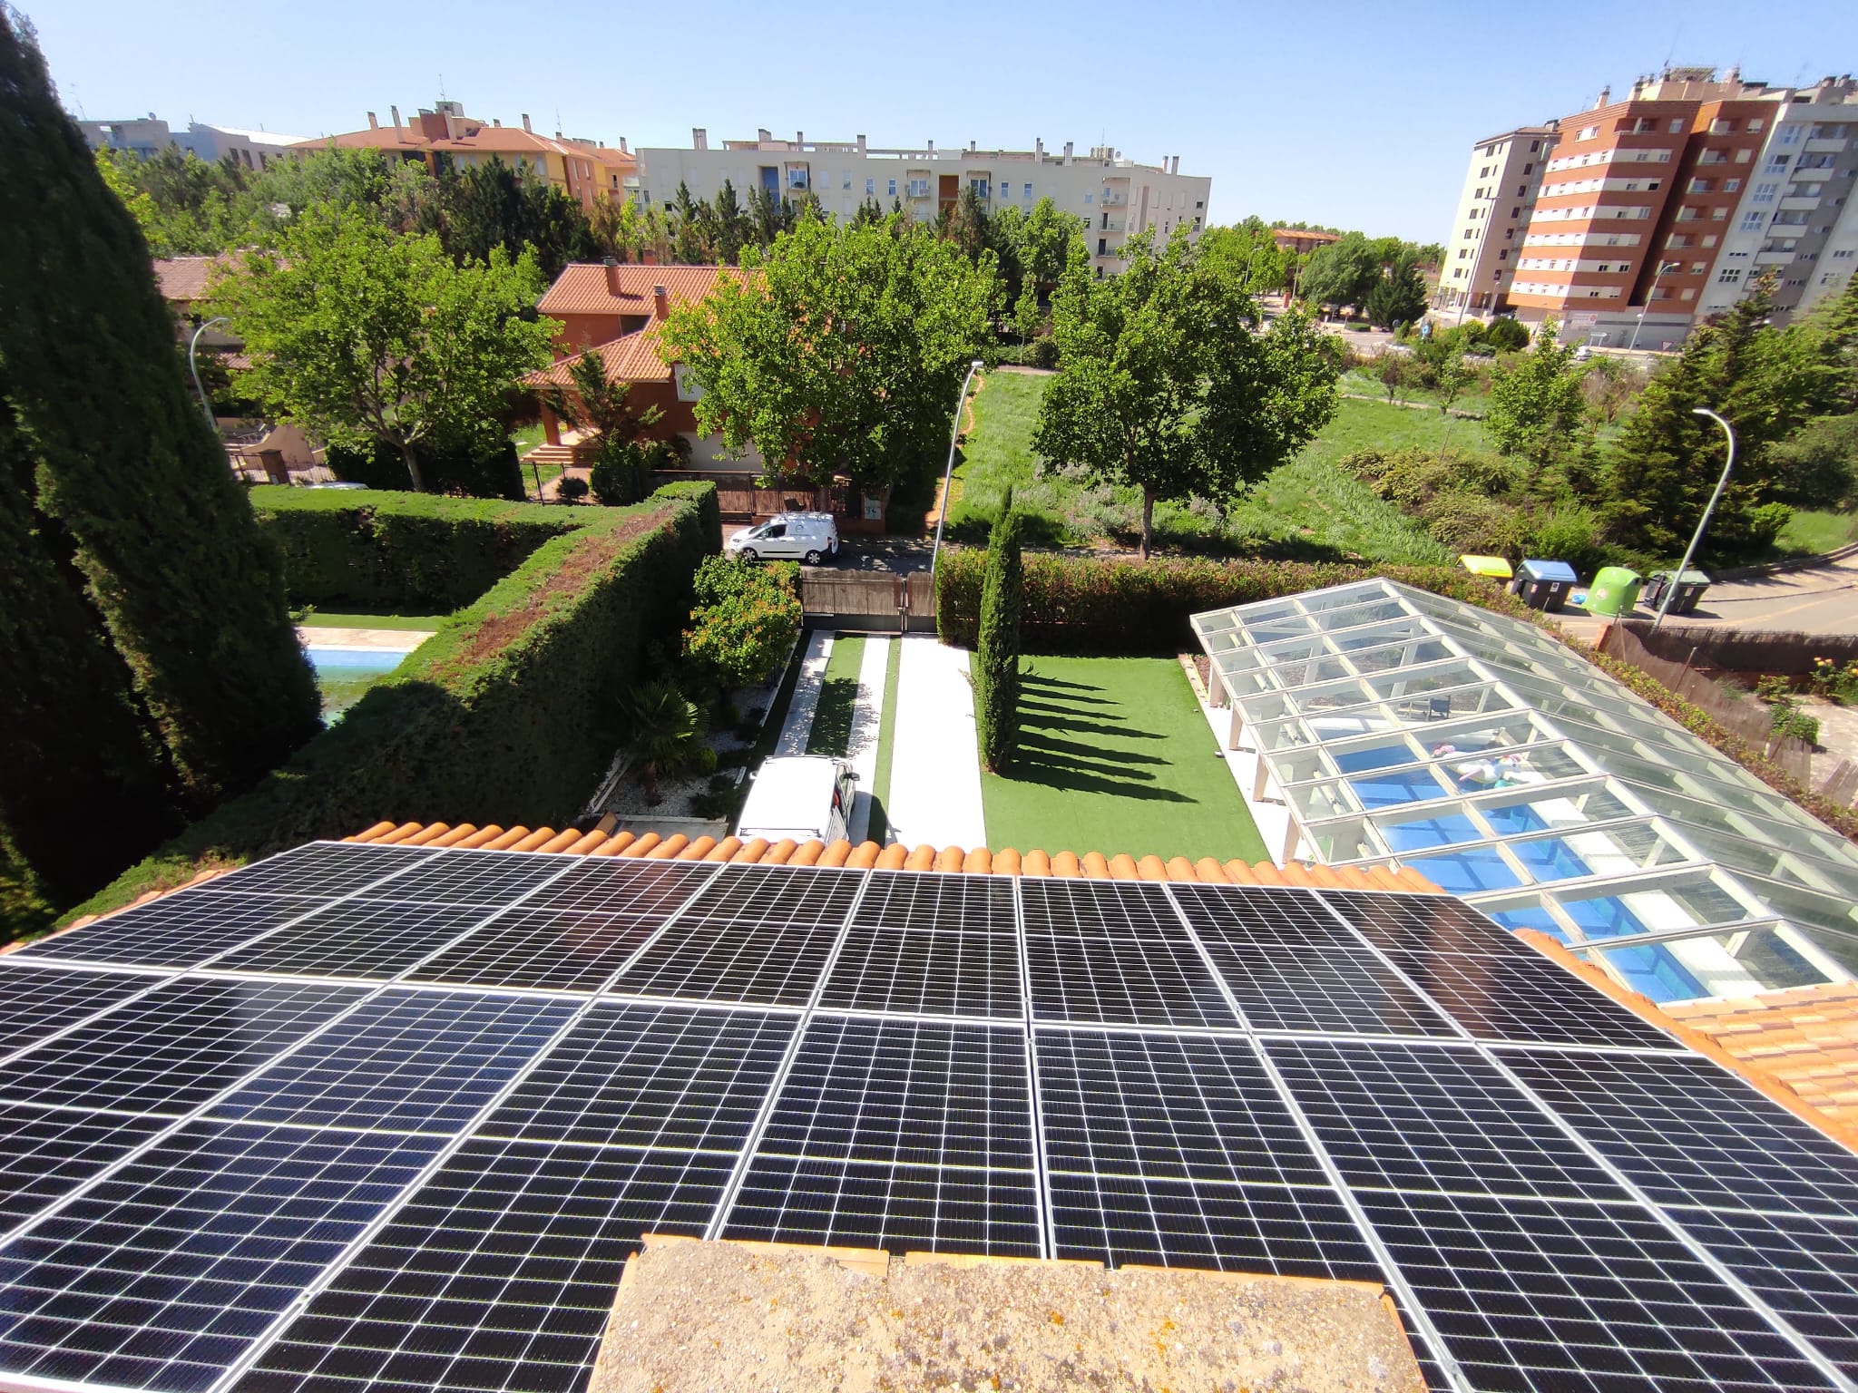
[(567, 1001), (383, 992), (214, 1105), (212, 1116), (457, 1133), (567, 1025)]

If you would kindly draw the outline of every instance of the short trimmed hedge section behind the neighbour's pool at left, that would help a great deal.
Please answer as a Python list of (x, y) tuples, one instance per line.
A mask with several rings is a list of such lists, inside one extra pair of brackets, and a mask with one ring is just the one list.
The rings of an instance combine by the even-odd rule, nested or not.
[(459, 609), (548, 539), (598, 522), (544, 503), (372, 488), (266, 485), (251, 507), (284, 557), (290, 604), (355, 613)]

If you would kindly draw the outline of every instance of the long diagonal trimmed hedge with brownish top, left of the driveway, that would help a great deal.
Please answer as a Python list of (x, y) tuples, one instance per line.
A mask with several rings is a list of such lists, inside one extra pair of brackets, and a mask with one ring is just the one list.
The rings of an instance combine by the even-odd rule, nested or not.
[(691, 576), (715, 552), (691, 487), (585, 509), (249, 795), (201, 819), (67, 918), (121, 908), (316, 838), (377, 821), (574, 819), (622, 736), (647, 646), (676, 635)]

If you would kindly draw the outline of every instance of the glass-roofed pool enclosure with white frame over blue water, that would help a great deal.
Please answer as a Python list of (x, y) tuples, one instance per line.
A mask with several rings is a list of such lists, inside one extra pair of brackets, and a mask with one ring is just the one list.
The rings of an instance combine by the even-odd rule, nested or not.
[(1533, 624), (1367, 579), (1193, 628), (1299, 854), (1412, 866), (1655, 999), (1858, 975), (1858, 849)]

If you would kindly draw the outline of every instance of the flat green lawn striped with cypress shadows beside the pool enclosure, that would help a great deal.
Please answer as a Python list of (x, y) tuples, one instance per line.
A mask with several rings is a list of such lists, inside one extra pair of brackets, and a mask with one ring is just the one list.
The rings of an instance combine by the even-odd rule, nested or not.
[(1033, 657), (1020, 752), (981, 775), (987, 845), (1267, 860), (1171, 657)]

